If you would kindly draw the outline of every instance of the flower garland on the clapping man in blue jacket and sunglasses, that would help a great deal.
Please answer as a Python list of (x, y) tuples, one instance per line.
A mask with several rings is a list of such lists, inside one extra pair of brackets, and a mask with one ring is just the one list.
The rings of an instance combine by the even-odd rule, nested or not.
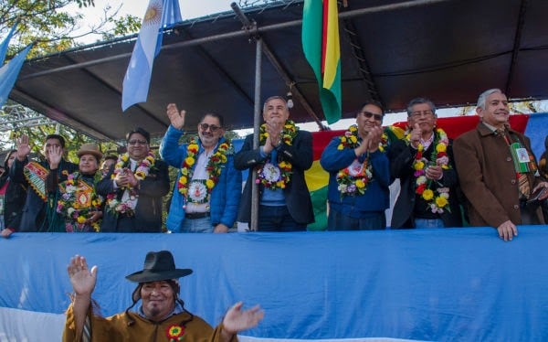
[[(344, 135), (340, 136), (341, 143), (337, 146), (337, 150), (342, 151), (345, 148), (354, 149), (358, 147), (359, 136), (358, 126), (353, 124), (348, 128), (348, 131)], [(381, 135), (381, 143), (379, 144), (379, 151), (385, 152), (386, 145), (388, 144), (388, 136), (386, 134)], [(351, 166), (345, 167), (337, 173), (337, 189), (343, 196), (356, 196), (364, 195), (367, 188), (367, 184), (373, 178), (372, 166), (369, 164), (369, 157), (366, 157), (362, 166), (356, 169), (351, 175)]]

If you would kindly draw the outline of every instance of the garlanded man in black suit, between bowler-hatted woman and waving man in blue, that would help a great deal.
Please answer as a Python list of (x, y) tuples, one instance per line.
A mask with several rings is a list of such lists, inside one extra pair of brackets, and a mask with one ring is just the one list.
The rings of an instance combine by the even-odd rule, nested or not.
[(101, 232), (161, 232), (162, 198), (169, 192), (167, 164), (150, 148), (150, 134), (136, 128), (126, 136), (120, 155), (97, 185), (105, 198)]

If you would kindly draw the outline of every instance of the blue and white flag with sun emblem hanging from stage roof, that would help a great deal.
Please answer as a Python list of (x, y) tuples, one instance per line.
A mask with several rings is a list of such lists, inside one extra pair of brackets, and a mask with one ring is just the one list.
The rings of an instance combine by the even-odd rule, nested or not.
[(182, 21), (178, 0), (151, 0), (142, 19), (141, 31), (123, 79), (121, 110), (146, 102), (154, 58), (162, 48), (163, 27)]

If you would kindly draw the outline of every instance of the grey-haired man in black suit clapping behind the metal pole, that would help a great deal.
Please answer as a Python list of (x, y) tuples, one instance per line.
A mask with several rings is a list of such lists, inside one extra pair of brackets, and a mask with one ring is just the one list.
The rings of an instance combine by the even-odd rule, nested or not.
[[(249, 134), (234, 158), (238, 170), (249, 169), (237, 220), (250, 221), (251, 187), (256, 181), (259, 231), (306, 230), (314, 221), (311, 195), (304, 179), (304, 171), (312, 166), (312, 134), (300, 131), (289, 117), (285, 99), (280, 96), (267, 99), (259, 147), (253, 149), (253, 134)], [(258, 171), (257, 180), (253, 179), (254, 169)]]

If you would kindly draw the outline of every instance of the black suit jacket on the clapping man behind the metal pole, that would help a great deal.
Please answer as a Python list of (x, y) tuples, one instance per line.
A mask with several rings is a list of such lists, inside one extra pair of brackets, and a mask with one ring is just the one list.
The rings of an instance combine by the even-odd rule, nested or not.
[[(293, 166), (290, 183), (283, 189), (286, 205), (291, 217), (300, 224), (309, 224), (314, 221), (311, 194), (306, 186), (304, 171), (312, 166), (312, 134), (299, 131), (293, 144), (280, 144), (278, 147), (279, 160), (285, 160)], [(246, 137), (242, 149), (234, 156), (234, 166), (238, 170), (249, 169), (249, 176), (240, 200), (237, 220), (249, 222), (251, 218), (251, 186), (254, 167), (263, 165), (266, 159), (261, 157), (259, 149), (253, 149), (253, 134)], [(263, 187), (259, 185), (259, 193)]]

